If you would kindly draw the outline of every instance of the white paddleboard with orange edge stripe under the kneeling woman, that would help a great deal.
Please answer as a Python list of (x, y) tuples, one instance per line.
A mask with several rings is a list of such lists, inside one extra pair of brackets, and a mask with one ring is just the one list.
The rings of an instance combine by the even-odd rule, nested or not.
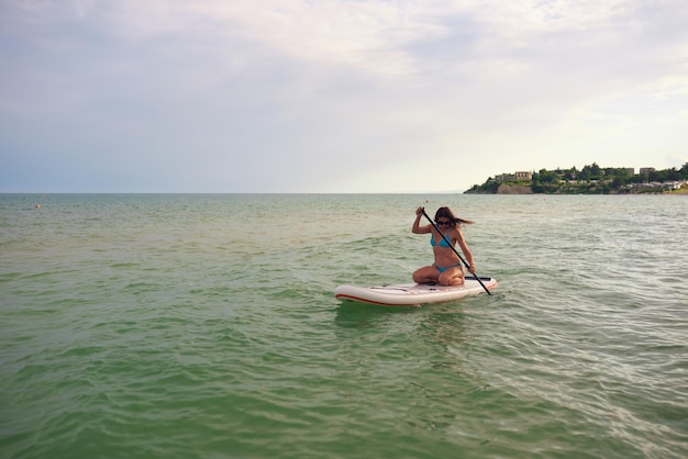
[[(480, 278), (488, 290), (497, 287), (493, 278)], [(485, 293), (475, 277), (466, 277), (460, 287), (433, 286), (426, 283), (400, 283), (393, 286), (356, 287), (340, 286), (334, 290), (339, 300), (358, 301), (382, 306), (415, 306), (420, 304), (444, 303), (459, 298)]]

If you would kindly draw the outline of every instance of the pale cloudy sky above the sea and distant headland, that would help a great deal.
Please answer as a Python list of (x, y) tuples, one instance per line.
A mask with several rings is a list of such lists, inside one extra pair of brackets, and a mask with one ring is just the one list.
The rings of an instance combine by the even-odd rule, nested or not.
[(0, 0), (0, 192), (688, 163), (686, 0)]

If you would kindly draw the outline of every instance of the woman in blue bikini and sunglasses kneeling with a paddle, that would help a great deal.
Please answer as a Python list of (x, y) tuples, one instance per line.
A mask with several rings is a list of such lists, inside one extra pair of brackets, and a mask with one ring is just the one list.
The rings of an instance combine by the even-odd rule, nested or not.
[[(413, 232), (413, 234), (431, 234), (430, 244), (435, 254), (435, 262), (432, 266), (424, 266), (413, 272), (413, 281), (418, 283), (436, 282), (441, 286), (463, 286), (464, 269), (453, 247), (458, 243), (466, 257), (466, 261), (470, 264), (468, 271), (475, 273), (476, 266), (473, 260), (473, 254), (468, 249), (466, 240), (464, 240), (464, 235), (459, 229), (462, 224), (471, 224), (473, 222), (454, 216), (450, 208), (440, 208), (435, 213), (435, 224), (442, 232), (442, 234), (439, 234), (431, 224), (424, 226), (420, 225), (423, 211), (423, 208), (415, 210), (415, 222), (413, 222), (411, 232)], [(442, 235), (444, 235), (444, 237), (442, 237)], [(452, 244), (451, 246), (445, 240), (445, 237)]]

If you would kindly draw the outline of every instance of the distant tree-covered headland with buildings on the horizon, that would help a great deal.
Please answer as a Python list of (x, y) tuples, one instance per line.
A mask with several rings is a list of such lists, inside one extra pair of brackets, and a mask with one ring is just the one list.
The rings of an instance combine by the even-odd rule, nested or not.
[(680, 169), (656, 170), (599, 167), (596, 163), (578, 170), (555, 169), (517, 171), (488, 178), (474, 184), (465, 194), (688, 194), (688, 163)]

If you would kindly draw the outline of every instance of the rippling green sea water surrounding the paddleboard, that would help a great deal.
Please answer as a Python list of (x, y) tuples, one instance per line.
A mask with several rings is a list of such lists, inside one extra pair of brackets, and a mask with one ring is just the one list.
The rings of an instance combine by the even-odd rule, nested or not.
[[(418, 205), (493, 294), (335, 300), (432, 261)], [(687, 243), (686, 197), (0, 195), (0, 457), (688, 457)]]

